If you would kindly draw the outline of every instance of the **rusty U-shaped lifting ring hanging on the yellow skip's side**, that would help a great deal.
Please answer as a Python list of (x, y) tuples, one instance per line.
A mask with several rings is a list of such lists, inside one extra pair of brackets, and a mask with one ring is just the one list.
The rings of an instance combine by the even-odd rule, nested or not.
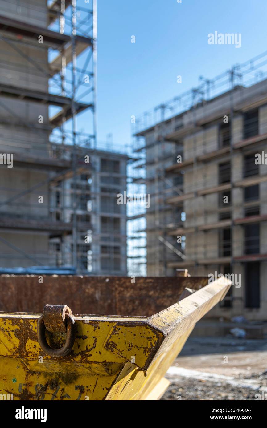
[(38, 339), (39, 345), (42, 348), (42, 350), (46, 354), (51, 355), (51, 357), (66, 357), (67, 355), (69, 355), (74, 345), (75, 333), (76, 333), (75, 321), (72, 315), (68, 314), (67, 312), (65, 315), (67, 315), (66, 342), (63, 345), (63, 347), (60, 349), (53, 349), (47, 343), (47, 340), (45, 337), (46, 328), (45, 328), (43, 314), (40, 316), (37, 322), (37, 339)]

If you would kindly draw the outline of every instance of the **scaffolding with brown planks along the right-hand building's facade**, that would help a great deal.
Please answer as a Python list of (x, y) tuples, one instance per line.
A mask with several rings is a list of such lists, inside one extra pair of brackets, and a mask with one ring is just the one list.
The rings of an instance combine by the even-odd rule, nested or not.
[[(231, 272), (234, 270), (234, 263), (240, 262), (241, 259), (244, 261), (250, 259), (257, 259), (252, 256), (243, 256), (242, 257), (233, 257), (233, 252), (230, 251), (230, 256), (217, 257), (214, 260), (211, 260), (207, 257), (207, 248), (203, 248), (202, 255), (199, 254), (197, 246), (195, 246), (195, 256), (192, 260), (186, 261), (186, 257), (183, 256), (185, 250), (186, 235), (193, 234), (196, 241), (197, 233), (201, 231), (208, 231), (210, 229), (220, 229), (224, 227), (230, 227), (231, 229), (231, 247), (236, 246), (236, 251), (241, 251), (241, 246), (243, 246), (243, 241), (237, 242), (234, 241), (234, 227), (237, 224), (248, 224), (254, 222), (261, 222), (266, 220), (265, 215), (252, 215), (253, 207), (255, 204), (259, 205), (264, 203), (264, 200), (258, 199), (257, 202), (246, 203), (247, 210), (251, 210), (247, 217), (239, 219), (234, 219), (232, 215), (233, 207), (222, 208), (219, 207), (219, 210), (222, 213), (221, 220), (217, 223), (208, 224), (207, 226), (198, 226), (197, 225), (197, 204), (194, 204), (193, 209), (193, 219), (192, 223), (194, 227), (188, 227), (187, 229), (183, 226), (183, 220), (180, 218), (177, 222), (174, 218), (174, 223), (176, 227), (170, 229), (168, 222), (162, 225), (159, 228), (159, 211), (162, 208), (163, 210), (168, 210), (171, 207), (176, 207), (178, 210), (178, 215), (182, 215), (185, 218), (186, 213), (184, 212), (184, 203), (190, 199), (195, 200), (198, 196), (204, 197), (204, 217), (207, 218), (207, 208), (209, 213), (214, 211), (213, 207), (210, 207), (208, 204), (207, 197), (212, 193), (218, 192), (230, 192), (233, 194), (233, 190), (237, 188), (245, 188), (255, 184), (263, 183), (267, 181), (267, 175), (258, 175), (254, 176), (253, 172), (251, 176), (249, 175), (249, 169), (247, 168), (245, 178), (240, 179), (237, 177), (237, 173), (232, 168), (230, 172), (230, 178), (228, 181), (222, 181), (219, 185), (214, 184), (213, 177), (207, 177), (204, 175), (203, 179), (198, 177), (198, 165), (203, 165), (206, 162), (209, 162), (212, 159), (225, 158), (229, 156), (230, 163), (232, 155), (237, 152), (246, 152), (255, 147), (261, 148), (266, 143), (267, 133), (256, 133), (249, 130), (245, 137), (240, 138), (240, 141), (233, 141), (233, 131), (231, 129), (231, 124), (233, 122), (233, 117), (238, 113), (245, 113), (251, 109), (256, 109), (259, 106), (263, 106), (267, 103), (267, 87), (264, 84), (264, 81), (267, 77), (267, 52), (264, 52), (258, 56), (255, 56), (252, 59), (244, 62), (243, 64), (234, 65), (230, 70), (219, 74), (213, 79), (205, 79), (200, 77), (200, 83), (197, 87), (190, 89), (182, 93), (181, 95), (172, 98), (171, 100), (162, 103), (150, 111), (143, 113), (141, 116), (136, 118), (133, 137), (135, 139), (135, 153), (143, 154), (143, 168), (149, 169), (150, 163), (153, 163), (153, 176), (150, 174), (148, 176), (144, 173), (142, 180), (146, 186), (146, 189), (149, 187), (150, 182), (152, 181), (155, 185), (155, 199), (154, 199), (154, 210), (156, 216), (154, 222), (150, 220), (148, 223), (148, 228), (151, 228), (155, 231), (155, 235), (158, 238), (158, 244), (154, 251), (154, 265), (155, 271), (154, 274), (166, 274), (167, 268), (182, 268), (182, 267), (192, 267), (197, 268), (198, 265), (207, 265), (210, 263), (222, 263), (230, 264)], [(247, 88), (251, 89), (250, 99), (246, 100), (245, 91)], [(210, 111), (210, 102), (217, 102), (217, 108), (213, 111)], [(222, 129), (220, 134), (221, 141), (219, 142), (219, 149), (217, 146), (217, 141), (214, 139), (207, 140), (207, 136), (204, 133), (202, 144), (197, 140), (197, 135), (199, 131), (206, 128), (210, 123), (215, 124), (223, 115), (228, 116), (229, 127), (226, 126)], [(251, 128), (255, 126), (252, 118)], [(183, 141), (184, 137), (192, 137), (192, 147), (191, 149), (186, 149), (186, 158), (183, 156), (183, 143), (181, 146), (175, 147), (175, 143)], [(159, 152), (159, 148), (162, 149), (162, 144), (169, 144), (174, 148), (174, 156), (171, 160), (171, 154), (166, 158), (167, 166), (160, 171), (160, 165), (162, 164), (162, 150)], [(154, 157), (151, 161), (147, 158), (147, 153), (149, 150), (154, 149)], [(182, 156), (182, 162), (179, 162), (175, 159), (176, 155)], [(133, 163), (138, 168), (138, 163)], [(192, 174), (192, 184), (186, 186), (186, 190), (183, 186), (184, 174), (187, 171), (190, 171), (189, 174)], [(151, 172), (151, 171), (150, 171)], [(174, 180), (177, 180), (180, 177), (180, 184), (177, 186)], [(159, 182), (164, 181), (165, 183), (169, 182), (168, 196), (166, 193), (163, 193), (162, 189), (159, 188)], [(165, 189), (166, 190), (166, 189)], [(164, 200), (163, 206), (161, 207), (160, 201)], [(238, 207), (238, 204), (235, 204), (235, 208)], [(240, 204), (241, 207), (241, 204)], [(228, 218), (228, 213), (226, 211), (231, 211), (230, 217)], [(225, 212), (225, 214), (224, 214)], [(249, 212), (249, 211), (247, 211)], [(147, 217), (148, 211), (144, 213)], [(225, 216), (225, 217), (224, 217)], [(148, 232), (149, 229), (147, 229)], [(178, 247), (174, 244), (176, 250), (178, 249), (180, 253), (177, 253), (176, 260), (170, 261), (166, 265), (164, 257), (159, 256), (159, 249), (164, 247), (171, 247), (168, 239), (170, 237), (176, 238), (177, 235), (182, 235), (184, 242)], [(166, 239), (167, 237), (167, 239)], [(257, 238), (257, 237), (256, 237)], [(251, 238), (251, 247), (253, 244)], [(205, 241), (207, 242), (207, 240)], [(167, 245), (166, 245), (167, 244)], [(220, 251), (225, 250), (225, 246), (229, 247), (226, 242), (222, 243)], [(249, 247), (249, 242), (246, 244)], [(214, 245), (215, 250), (216, 245)], [(266, 247), (266, 246), (265, 246)], [(211, 247), (209, 245), (211, 250)], [(267, 248), (266, 248), (267, 250)], [(149, 251), (149, 244), (147, 245), (147, 252)], [(223, 252), (223, 251), (222, 251)], [(173, 253), (175, 250), (173, 249)], [(227, 251), (225, 250), (225, 253)], [(264, 259), (263, 247), (261, 248), (261, 255), (258, 255), (258, 259)], [(266, 251), (265, 251), (266, 253)], [(138, 253), (137, 253), (138, 256)], [(151, 258), (150, 258), (151, 259)], [(159, 271), (159, 265), (162, 263), (163, 270)]]

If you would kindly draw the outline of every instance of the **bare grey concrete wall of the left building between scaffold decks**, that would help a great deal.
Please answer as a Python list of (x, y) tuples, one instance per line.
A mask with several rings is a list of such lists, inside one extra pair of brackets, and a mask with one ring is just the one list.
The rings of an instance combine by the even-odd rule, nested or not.
[[(0, 1), (1, 15), (14, 18), (27, 24), (37, 25), (40, 29), (47, 26), (47, 6), (45, 0), (34, 2), (24, 0), (23, 5), (16, 2)], [(38, 44), (25, 44), (15, 35), (5, 34), (7, 40), (0, 41), (0, 74), (1, 83), (17, 86), (24, 89), (48, 90), (48, 53), (47, 49)], [(30, 58), (30, 61), (29, 61)], [(33, 61), (35, 65), (33, 64)], [(39, 70), (43, 69), (43, 72)], [(42, 124), (39, 117), (42, 116)], [(31, 126), (32, 125), (32, 126)], [(48, 107), (41, 103), (28, 103), (12, 98), (0, 98), (0, 152), (12, 153), (14, 161), (20, 160), (21, 154), (42, 157), (48, 155)], [(35, 184), (45, 181), (48, 172), (39, 172), (38, 169), (7, 168), (0, 166), (1, 200), (19, 195)], [(38, 196), (43, 196), (43, 203), (38, 203)], [(0, 207), (1, 215), (22, 219), (41, 220), (50, 219), (48, 185), (40, 187), (18, 197), (11, 204)], [(17, 220), (16, 220), (17, 219)], [(5, 230), (0, 236), (12, 246), (25, 253), (49, 261), (49, 241), (47, 232), (29, 232), (19, 230)], [(18, 251), (3, 243), (0, 244), (0, 266), (32, 266), (37, 265), (34, 260), (27, 259)], [(6, 254), (6, 257), (4, 256)]]

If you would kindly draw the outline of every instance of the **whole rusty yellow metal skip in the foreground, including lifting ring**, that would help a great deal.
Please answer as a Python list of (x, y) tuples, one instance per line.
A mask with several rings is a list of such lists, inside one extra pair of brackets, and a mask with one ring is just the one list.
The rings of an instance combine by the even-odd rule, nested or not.
[(0, 397), (159, 399), (196, 322), (230, 285), (185, 276), (1, 275)]

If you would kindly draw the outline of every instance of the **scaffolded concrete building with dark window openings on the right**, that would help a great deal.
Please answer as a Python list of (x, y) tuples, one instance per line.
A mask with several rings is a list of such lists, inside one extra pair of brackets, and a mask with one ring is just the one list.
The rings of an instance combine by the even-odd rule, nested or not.
[(135, 129), (136, 153), (144, 153), (135, 165), (146, 169), (151, 193), (147, 274), (232, 274), (231, 291), (210, 316), (266, 319), (266, 57), (201, 78)]

